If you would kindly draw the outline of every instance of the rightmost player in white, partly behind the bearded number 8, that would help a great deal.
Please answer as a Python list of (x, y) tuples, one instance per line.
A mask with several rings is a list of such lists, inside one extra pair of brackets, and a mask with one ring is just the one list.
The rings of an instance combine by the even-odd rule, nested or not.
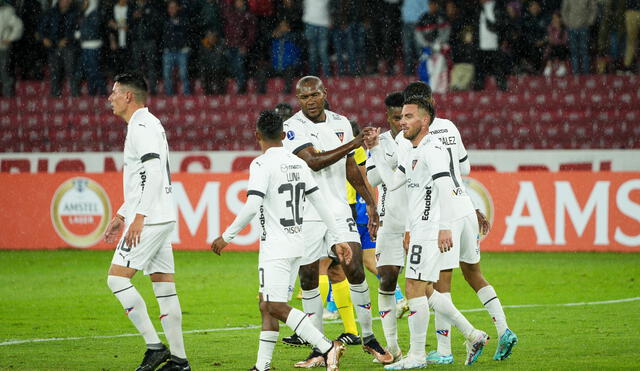
[[(423, 82), (414, 82), (407, 86), (404, 95), (405, 98), (421, 96), (431, 99), (431, 88)], [(458, 128), (449, 120), (436, 117), (429, 126), (429, 135), (437, 138), (440, 145), (447, 151), (451, 179), (456, 187), (462, 190), (460, 194), (462, 201), (459, 207), (453, 210), (453, 248), (443, 255), (440, 277), (435, 288), (451, 299), (452, 270), (460, 267), (465, 280), (476, 292), (496, 326), (499, 340), (493, 359), (504, 360), (511, 355), (513, 347), (518, 343), (518, 337), (509, 329), (500, 299), (480, 269), (480, 233), (486, 234), (489, 231), (489, 222), (482, 212), (473, 206), (462, 181), (462, 176), (469, 175), (471, 171), (467, 150)], [(451, 323), (436, 312), (435, 328), (438, 349), (429, 352), (427, 362), (430, 364), (453, 363)]]

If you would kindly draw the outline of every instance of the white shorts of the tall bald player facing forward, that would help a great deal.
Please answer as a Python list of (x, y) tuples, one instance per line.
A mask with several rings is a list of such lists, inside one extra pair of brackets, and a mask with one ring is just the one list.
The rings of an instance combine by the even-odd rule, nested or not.
[[(336, 215), (336, 228), (339, 242), (360, 243), (358, 226), (350, 212), (347, 215)], [(316, 260), (335, 255), (331, 251), (327, 231), (327, 226), (323, 222), (304, 222), (302, 235), (304, 236), (306, 256), (302, 258), (301, 265), (311, 264)]]

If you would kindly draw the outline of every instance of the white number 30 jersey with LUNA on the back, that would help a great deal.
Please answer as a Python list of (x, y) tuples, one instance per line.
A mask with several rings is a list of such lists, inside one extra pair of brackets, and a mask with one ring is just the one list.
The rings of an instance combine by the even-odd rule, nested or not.
[(251, 162), (247, 196), (263, 197), (258, 213), (261, 260), (304, 255), (305, 196), (317, 190), (307, 164), (282, 147), (269, 148)]

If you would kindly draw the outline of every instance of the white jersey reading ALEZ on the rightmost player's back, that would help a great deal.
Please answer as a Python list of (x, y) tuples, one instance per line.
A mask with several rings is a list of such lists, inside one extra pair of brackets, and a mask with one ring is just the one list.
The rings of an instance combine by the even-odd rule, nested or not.
[(468, 156), (458, 128), (450, 120), (436, 117), (429, 125), (429, 135), (438, 139), (449, 157), (449, 173), (459, 193), (454, 201), (453, 220), (475, 214), (475, 207), (467, 194), (460, 171), (460, 164), (467, 161)]

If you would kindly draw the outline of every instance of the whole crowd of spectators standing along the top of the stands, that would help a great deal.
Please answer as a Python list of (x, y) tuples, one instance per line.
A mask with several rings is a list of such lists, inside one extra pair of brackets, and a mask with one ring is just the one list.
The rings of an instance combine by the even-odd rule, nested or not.
[[(60, 96), (139, 69), (152, 94), (237, 93), (274, 76), (418, 74), (434, 91), (487, 75), (635, 73), (640, 0), (0, 0), (0, 78)], [(180, 88), (174, 83), (174, 74)]]

